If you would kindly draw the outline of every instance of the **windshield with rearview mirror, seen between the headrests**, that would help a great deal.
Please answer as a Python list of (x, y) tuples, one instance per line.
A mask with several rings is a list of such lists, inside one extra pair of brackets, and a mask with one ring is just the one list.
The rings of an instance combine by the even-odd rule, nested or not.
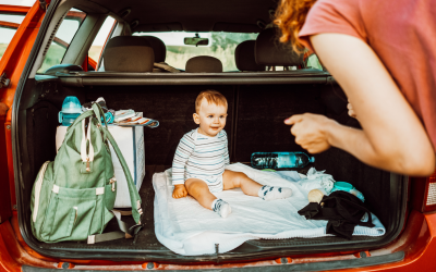
[(201, 38), (208, 38), (207, 46), (184, 45), (184, 38), (195, 37), (197, 33), (162, 32), (162, 33), (134, 33), (134, 36), (154, 36), (167, 46), (166, 63), (184, 70), (189, 59), (197, 55), (210, 55), (222, 62), (223, 72), (238, 71), (234, 62), (234, 49), (245, 40), (255, 40), (258, 33), (198, 33)]

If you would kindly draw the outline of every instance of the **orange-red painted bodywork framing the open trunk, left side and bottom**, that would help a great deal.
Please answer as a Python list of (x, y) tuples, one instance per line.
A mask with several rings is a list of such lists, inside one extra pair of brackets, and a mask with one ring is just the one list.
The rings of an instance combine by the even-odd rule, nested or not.
[[(49, 1), (47, 2), (49, 3)], [(5, 72), (8, 77), (11, 79), (10, 86), (0, 90), (0, 100), (4, 101), (9, 107), (12, 107), (16, 86), (21, 79), (24, 65), (39, 32), (45, 10), (40, 9), (39, 2), (35, 2), (31, 9), (26, 7), (0, 5), (0, 11), (3, 11), (2, 9), (15, 14), (20, 12), (28, 12), (23, 23), (17, 27), (17, 32), (4, 52), (3, 59), (0, 63), (0, 75)], [(88, 59), (88, 63), (94, 67), (97, 64), (92, 59)], [(0, 147), (0, 163), (3, 165), (3, 168), (0, 168), (0, 171), (5, 171), (7, 173), (5, 175), (2, 175), (0, 180), (3, 188), (0, 190), (0, 198), (5, 199), (5, 197), (9, 197), (9, 190), (4, 189), (5, 185), (10, 187), (11, 193), (11, 206), (0, 208), (0, 214), (3, 214), (4, 212), (7, 218), (10, 218), (9, 220), (0, 219), (0, 268), (2, 270), (22, 271), (23, 265), (45, 269), (144, 270), (149, 268), (150, 263), (153, 263), (155, 270), (172, 271), (208, 269), (225, 270), (234, 268), (265, 268), (266, 270), (266, 268), (272, 265), (289, 265), (289, 270), (292, 270), (292, 265), (294, 264), (355, 260), (363, 258), (361, 252), (355, 251), (306, 256), (287, 256), (286, 252), (283, 252), (282, 258), (279, 259), (251, 260), (250, 262), (241, 263), (171, 264), (156, 263), (153, 262), (153, 260), (145, 262), (116, 262), (107, 260), (52, 259), (41, 256), (26, 245), (21, 235), (17, 212), (16, 210), (11, 211), (11, 207), (16, 205), (12, 164), (11, 113), (12, 111), (10, 110), (3, 120), (0, 118), (0, 125), (2, 126), (0, 128), (0, 134), (2, 134), (2, 136), (4, 135), (4, 140), (7, 143), (4, 151)], [(1, 136), (0, 141), (2, 141)], [(9, 164), (7, 164), (7, 162)], [(4, 165), (7, 165), (7, 168)], [(436, 256), (435, 238), (436, 213), (424, 214), (419, 211), (411, 211), (403, 232), (396, 240), (384, 248), (364, 251), (367, 258), (382, 257), (402, 251), (404, 252), (404, 258), (401, 261), (363, 268), (341, 269), (340, 271), (434, 271), (435, 264), (433, 258)], [(219, 256), (217, 260), (219, 260)]]

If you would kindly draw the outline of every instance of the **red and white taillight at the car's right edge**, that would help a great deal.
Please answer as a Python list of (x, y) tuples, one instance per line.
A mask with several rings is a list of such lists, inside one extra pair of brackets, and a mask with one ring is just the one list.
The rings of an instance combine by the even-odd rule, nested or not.
[(436, 211), (436, 172), (412, 181), (413, 208), (421, 212)]

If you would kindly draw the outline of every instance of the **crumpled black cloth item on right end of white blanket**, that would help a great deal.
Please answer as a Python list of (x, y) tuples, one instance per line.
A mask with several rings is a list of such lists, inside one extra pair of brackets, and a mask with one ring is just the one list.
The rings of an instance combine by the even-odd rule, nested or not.
[[(362, 222), (365, 213), (368, 220)], [(374, 226), (371, 212), (362, 200), (343, 190), (336, 190), (329, 196), (324, 196), (320, 203), (308, 203), (299, 211), (299, 214), (312, 220), (328, 220), (326, 233), (347, 239), (351, 239), (356, 225)]]

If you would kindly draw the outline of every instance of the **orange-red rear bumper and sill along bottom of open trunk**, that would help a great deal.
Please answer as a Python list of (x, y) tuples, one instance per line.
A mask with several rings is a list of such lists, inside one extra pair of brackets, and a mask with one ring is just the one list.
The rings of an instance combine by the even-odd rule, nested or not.
[[(341, 269), (340, 271), (433, 271), (434, 256), (436, 256), (436, 213), (423, 214), (413, 211), (404, 232), (390, 245), (385, 248), (365, 251), (366, 258), (382, 257), (395, 252), (404, 252), (401, 261), (361, 267), (352, 269)], [(16, 235), (16, 236), (15, 236)], [(234, 268), (259, 268), (270, 265), (294, 265), (304, 263), (323, 263), (341, 260), (355, 260), (362, 258), (360, 252), (336, 252), (310, 256), (286, 256), (274, 260), (253, 260), (242, 263), (222, 264), (170, 264), (156, 263), (153, 260), (145, 262), (113, 262), (100, 260), (56, 260), (43, 257), (32, 250), (20, 235), (17, 214), (14, 212), (12, 220), (0, 224), (0, 264), (7, 271), (21, 271), (22, 265), (56, 269), (66, 265), (70, 269), (80, 270), (144, 270), (149, 263), (156, 270), (208, 270), (208, 269), (234, 269)], [(286, 261), (283, 260), (286, 259)], [(64, 264), (66, 263), (66, 264)], [(300, 267), (300, 265), (299, 265)], [(290, 268), (291, 269), (291, 268)], [(250, 271), (250, 270), (249, 270)], [(304, 270), (303, 270), (304, 271)]]

